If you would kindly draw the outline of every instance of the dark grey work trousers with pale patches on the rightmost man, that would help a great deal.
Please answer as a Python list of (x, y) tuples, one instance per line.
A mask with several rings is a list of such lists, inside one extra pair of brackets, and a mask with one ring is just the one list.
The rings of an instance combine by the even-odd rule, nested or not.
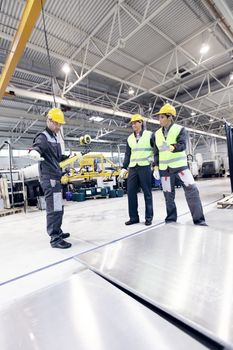
[[(161, 174), (162, 175), (162, 174)], [(175, 179), (179, 177), (179, 181), (185, 192), (185, 198), (189, 206), (194, 224), (205, 221), (203, 208), (198, 188), (194, 183), (193, 176), (189, 169), (179, 171), (173, 174), (164, 174), (161, 176), (163, 193), (166, 201), (167, 216), (165, 221), (172, 222), (177, 220), (177, 209), (175, 204)]]

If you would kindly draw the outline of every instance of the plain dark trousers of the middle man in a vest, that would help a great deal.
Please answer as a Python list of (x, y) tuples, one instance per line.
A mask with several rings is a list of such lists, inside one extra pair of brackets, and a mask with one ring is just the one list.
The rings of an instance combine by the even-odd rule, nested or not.
[(135, 166), (129, 168), (129, 175), (127, 180), (127, 193), (128, 193), (128, 208), (130, 220), (136, 221), (139, 219), (138, 215), (138, 197), (137, 193), (139, 188), (142, 188), (145, 199), (145, 219), (153, 219), (153, 200), (151, 193), (151, 167)]

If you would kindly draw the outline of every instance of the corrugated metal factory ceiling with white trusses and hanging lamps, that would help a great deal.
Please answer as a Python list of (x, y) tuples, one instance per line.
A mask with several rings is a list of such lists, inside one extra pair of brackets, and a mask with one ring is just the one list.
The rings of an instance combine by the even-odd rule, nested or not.
[[(1, 70), (26, 4), (0, 0)], [(74, 150), (83, 134), (95, 150), (124, 144), (138, 112), (156, 130), (166, 101), (193, 140), (221, 139), (233, 122), (232, 72), (231, 0), (47, 0), (0, 102), (0, 143), (30, 146), (54, 99)]]

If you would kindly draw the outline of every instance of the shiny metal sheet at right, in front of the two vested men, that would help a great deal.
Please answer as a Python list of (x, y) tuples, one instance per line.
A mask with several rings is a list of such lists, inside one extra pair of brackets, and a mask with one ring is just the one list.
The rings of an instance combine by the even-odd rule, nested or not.
[(233, 235), (169, 224), (78, 260), (233, 349)]

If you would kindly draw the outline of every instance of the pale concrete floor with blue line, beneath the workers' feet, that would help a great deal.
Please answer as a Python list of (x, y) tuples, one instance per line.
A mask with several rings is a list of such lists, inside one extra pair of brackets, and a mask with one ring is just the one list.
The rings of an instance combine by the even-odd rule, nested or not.
[[(197, 182), (208, 230), (232, 233), (231, 209), (217, 209), (216, 201), (230, 194), (229, 178)], [(163, 193), (153, 191), (153, 226), (163, 225)], [(176, 190), (179, 223), (192, 227), (191, 216), (181, 188)], [(65, 202), (63, 231), (70, 232), (72, 248), (52, 249), (45, 231), (45, 212), (31, 211), (0, 218), (0, 307), (49, 284), (68, 277), (83, 267), (73, 257), (101, 245), (150, 230), (144, 225), (144, 200), (139, 194), (141, 223), (126, 227), (127, 196), (114, 199)]]

